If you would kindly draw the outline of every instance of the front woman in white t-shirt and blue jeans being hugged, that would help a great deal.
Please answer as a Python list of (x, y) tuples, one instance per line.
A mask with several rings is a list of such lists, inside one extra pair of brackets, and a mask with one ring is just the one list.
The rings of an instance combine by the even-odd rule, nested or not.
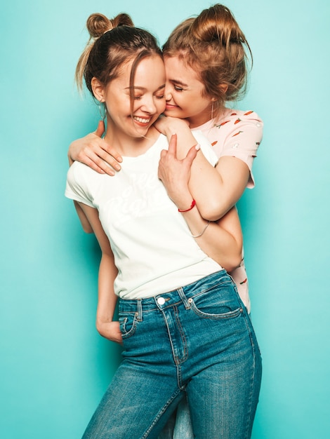
[[(125, 14), (112, 21), (92, 15), (88, 29), (93, 39), (77, 79), (84, 76), (104, 102), (105, 141), (123, 162), (114, 177), (75, 162), (66, 195), (100, 243), (97, 325), (110, 339), (122, 337), (124, 359), (84, 438), (156, 438), (185, 393), (197, 437), (248, 438), (260, 353), (235, 284), (202, 250), (215, 236), (234, 259), (241, 247), (237, 229), (231, 234), (199, 213), (199, 188), (213, 190), (216, 157), (202, 135), (178, 135), (179, 156), (187, 153), (183, 140), (186, 148), (199, 142), (203, 154), (190, 149), (180, 162), (190, 169), (189, 186), (183, 179), (171, 200), (158, 178), (168, 142), (153, 126), (165, 105), (157, 44)], [(169, 154), (176, 155), (175, 136)], [(116, 297), (119, 323), (112, 321)]]

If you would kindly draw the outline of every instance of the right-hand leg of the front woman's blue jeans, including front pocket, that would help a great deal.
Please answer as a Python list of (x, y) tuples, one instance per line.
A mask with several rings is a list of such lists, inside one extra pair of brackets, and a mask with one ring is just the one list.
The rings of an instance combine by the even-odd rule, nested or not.
[(194, 358), (202, 362), (186, 388), (194, 437), (248, 439), (261, 381), (256, 335), (235, 285), (227, 282), (209, 292), (191, 302), (200, 317)]

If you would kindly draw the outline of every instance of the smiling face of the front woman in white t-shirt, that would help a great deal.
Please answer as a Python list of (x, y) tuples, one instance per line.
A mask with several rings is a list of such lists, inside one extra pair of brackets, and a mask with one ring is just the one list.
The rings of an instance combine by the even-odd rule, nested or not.
[[(130, 74), (133, 60), (121, 67), (116, 79), (106, 88), (93, 79), (95, 97), (107, 107), (107, 133), (116, 139), (145, 137), (165, 109), (165, 68), (159, 55), (138, 62), (130, 93)], [(133, 97), (133, 107), (131, 101)], [(120, 142), (123, 144), (123, 142)], [(131, 140), (129, 140), (131, 143)]]

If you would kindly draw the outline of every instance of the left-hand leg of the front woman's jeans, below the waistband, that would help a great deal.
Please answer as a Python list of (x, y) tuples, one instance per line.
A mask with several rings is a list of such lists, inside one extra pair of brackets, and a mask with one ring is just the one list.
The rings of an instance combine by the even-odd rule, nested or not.
[(151, 313), (139, 321), (126, 316), (122, 321), (124, 360), (84, 439), (157, 438), (183, 398), (164, 328)]

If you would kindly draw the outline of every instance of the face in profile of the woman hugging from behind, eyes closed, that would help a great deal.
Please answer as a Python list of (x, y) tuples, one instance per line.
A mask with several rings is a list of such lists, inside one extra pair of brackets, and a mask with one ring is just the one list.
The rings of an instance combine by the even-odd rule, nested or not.
[(183, 60), (164, 58), (166, 69), (166, 116), (187, 119), (195, 128), (211, 119), (212, 101), (204, 93), (198, 74)]

